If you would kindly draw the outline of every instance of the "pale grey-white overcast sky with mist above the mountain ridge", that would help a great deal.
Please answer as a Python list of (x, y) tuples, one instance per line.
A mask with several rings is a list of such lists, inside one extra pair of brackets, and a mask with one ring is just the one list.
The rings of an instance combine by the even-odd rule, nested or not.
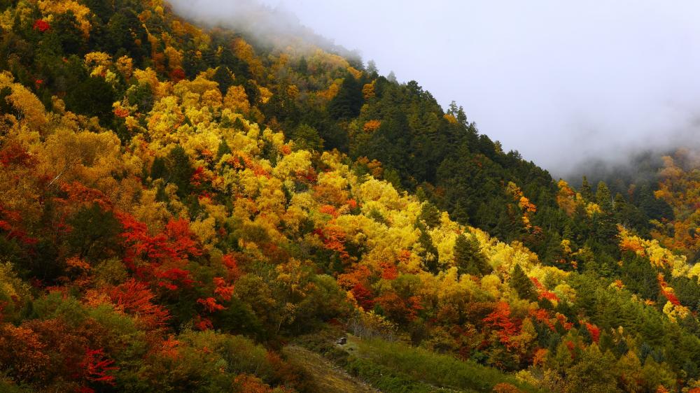
[(700, 140), (700, 1), (260, 1), (555, 174)]

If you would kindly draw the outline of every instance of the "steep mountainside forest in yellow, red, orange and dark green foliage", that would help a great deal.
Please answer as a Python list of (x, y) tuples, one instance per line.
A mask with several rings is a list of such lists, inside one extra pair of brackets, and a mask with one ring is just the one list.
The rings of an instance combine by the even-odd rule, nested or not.
[(700, 391), (692, 152), (575, 189), (313, 45), (0, 11), (0, 390)]

